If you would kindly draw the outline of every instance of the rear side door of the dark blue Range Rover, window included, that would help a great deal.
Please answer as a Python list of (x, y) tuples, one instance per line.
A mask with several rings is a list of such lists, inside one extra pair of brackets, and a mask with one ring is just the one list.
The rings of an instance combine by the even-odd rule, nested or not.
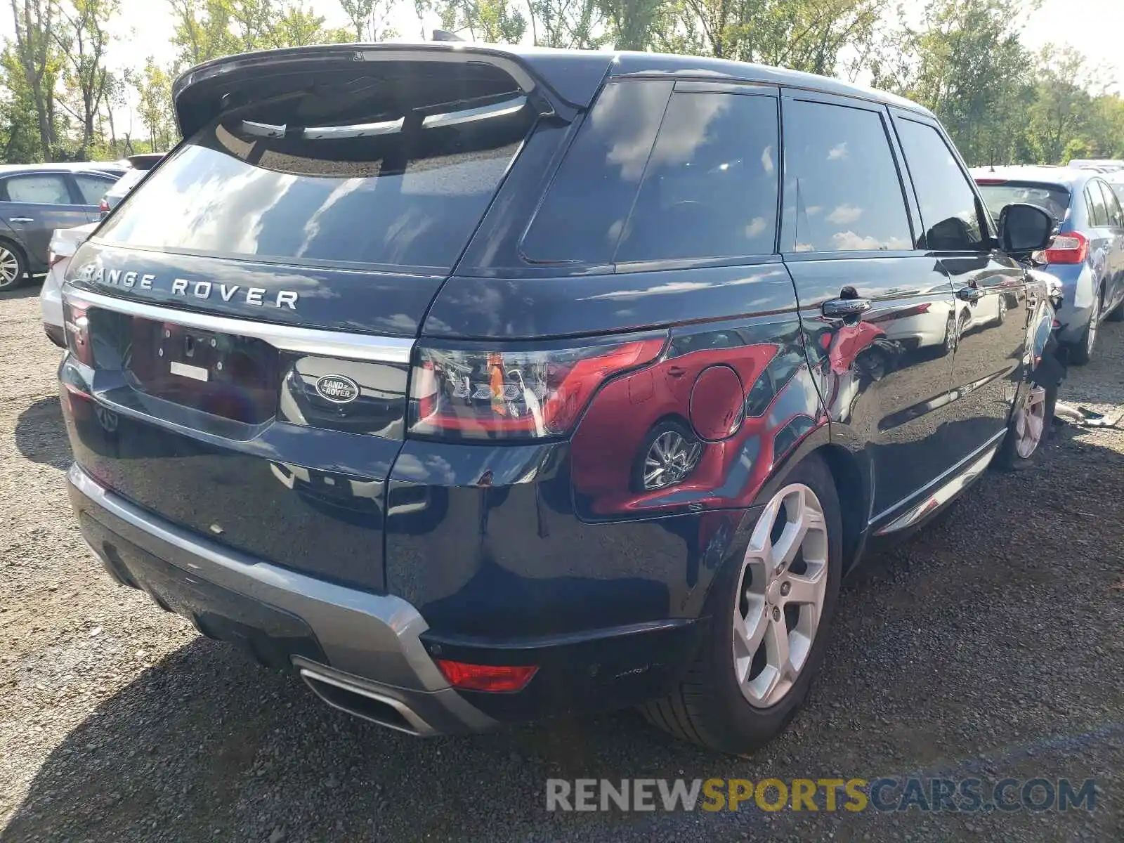
[(939, 262), (914, 245), (882, 107), (792, 92), (783, 98), (783, 127), (781, 253), (831, 417), (869, 447), (877, 519), (953, 456), (943, 435), (952, 288)]

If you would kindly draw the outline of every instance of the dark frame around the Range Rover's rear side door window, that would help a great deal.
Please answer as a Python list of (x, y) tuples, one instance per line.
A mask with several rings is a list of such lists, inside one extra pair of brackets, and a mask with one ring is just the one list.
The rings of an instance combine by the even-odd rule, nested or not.
[(897, 133), (892, 129), (890, 111), (886, 105), (872, 100), (864, 100), (854, 97), (843, 97), (823, 91), (808, 91), (800, 88), (782, 88), (780, 96), (780, 190), (777, 226), (777, 252), (783, 255), (786, 261), (816, 261), (826, 256), (832, 259), (868, 259), (868, 257), (900, 257), (901, 255), (916, 252), (912, 250), (876, 250), (855, 252), (796, 252), (785, 248), (785, 244), (790, 242), (789, 235), (794, 235), (796, 227), (796, 205), (789, 205), (785, 194), (785, 183), (787, 181), (786, 169), (788, 166), (787, 135), (785, 130), (786, 105), (790, 102), (817, 102), (825, 106), (841, 106), (861, 111), (870, 111), (878, 115), (882, 123), (882, 132), (890, 149), (890, 157), (894, 160), (894, 167), (898, 176), (898, 185), (901, 191), (901, 201), (906, 209), (906, 223), (909, 228), (910, 245), (916, 245), (918, 232), (921, 230), (921, 209), (913, 192), (913, 183), (909, 180), (909, 171), (905, 166), (905, 155), (898, 143)]

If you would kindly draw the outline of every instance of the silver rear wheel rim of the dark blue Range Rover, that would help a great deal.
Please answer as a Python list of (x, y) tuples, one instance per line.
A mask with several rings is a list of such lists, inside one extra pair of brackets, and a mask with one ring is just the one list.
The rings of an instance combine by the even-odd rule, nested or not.
[(827, 552), (816, 493), (800, 483), (777, 492), (750, 538), (734, 607), (734, 673), (755, 708), (779, 703), (808, 661), (827, 589)]

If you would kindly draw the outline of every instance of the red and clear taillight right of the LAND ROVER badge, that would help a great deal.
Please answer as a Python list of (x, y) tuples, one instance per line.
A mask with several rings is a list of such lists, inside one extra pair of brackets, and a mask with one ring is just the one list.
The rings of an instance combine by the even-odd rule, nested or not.
[(664, 341), (647, 334), (533, 350), (420, 347), (410, 377), (408, 430), (473, 439), (562, 436), (601, 383), (651, 363)]

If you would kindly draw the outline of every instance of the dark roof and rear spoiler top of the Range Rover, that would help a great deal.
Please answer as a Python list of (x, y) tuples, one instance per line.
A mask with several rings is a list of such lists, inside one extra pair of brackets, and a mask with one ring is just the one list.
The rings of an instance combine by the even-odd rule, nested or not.
[(183, 134), (190, 134), (221, 110), (223, 96), (239, 80), (270, 71), (292, 72), (301, 65), (324, 65), (380, 58), (415, 58), (435, 61), (479, 61), (501, 65), (513, 73), (526, 90), (540, 82), (558, 98), (586, 108), (607, 76), (665, 75), (669, 78), (705, 78), (714, 81), (759, 82), (844, 97), (859, 97), (876, 102), (931, 115), (916, 102), (885, 91), (842, 82), (813, 73), (770, 67), (763, 64), (732, 62), (663, 53), (605, 52), (591, 49), (552, 49), (518, 45), (479, 45), (461, 42), (420, 42), (383, 44), (328, 44), (310, 47), (288, 47), (215, 58), (196, 65), (175, 80), (172, 97), (176, 120)]

